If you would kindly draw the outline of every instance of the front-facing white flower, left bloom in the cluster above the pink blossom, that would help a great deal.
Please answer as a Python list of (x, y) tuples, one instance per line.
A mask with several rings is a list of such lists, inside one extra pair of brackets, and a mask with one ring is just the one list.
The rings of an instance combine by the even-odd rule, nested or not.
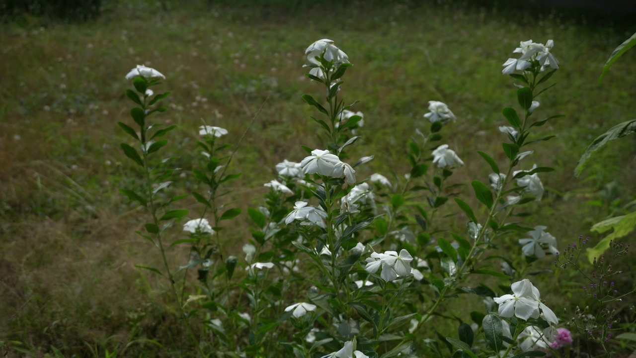
[(516, 316), (527, 320), (539, 313), (539, 304), (533, 296), (532, 283), (527, 278), (510, 285), (513, 294), (504, 294), (501, 297), (494, 297), (495, 303), (499, 304), (499, 315), (501, 317)]

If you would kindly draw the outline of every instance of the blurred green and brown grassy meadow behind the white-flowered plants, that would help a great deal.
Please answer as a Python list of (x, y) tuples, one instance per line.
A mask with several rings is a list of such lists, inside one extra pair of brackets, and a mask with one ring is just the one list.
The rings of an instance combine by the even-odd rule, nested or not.
[[(0, 8), (6, 10), (6, 4)], [(203, 122), (228, 129), (223, 139), (237, 143), (256, 116), (231, 166), (243, 175), (225, 197), (245, 211), (262, 203), (268, 191), (263, 183), (275, 176), (275, 164), (300, 161), (301, 144), (321, 148), (308, 118), (314, 111), (300, 98), (322, 95), (301, 68), (303, 51), (316, 39), (335, 40), (354, 64), (342, 94), (347, 102), (361, 100), (354, 110), (363, 111), (365, 124), (362, 145), (351, 147), (349, 155), (375, 155), (359, 167), (359, 178), (378, 172), (391, 179), (391, 169), (406, 173), (408, 138), (426, 126), (427, 101), (438, 100), (458, 118), (445, 127), (448, 144), (466, 162), (455, 171), (457, 183), (487, 182), (487, 166), (476, 150), (504, 160), (497, 127), (506, 124), (501, 109), (515, 104), (516, 88), (501, 75), (501, 64), (519, 41), (554, 39), (558, 84), (540, 98), (539, 109), (546, 117), (567, 117), (537, 129), (557, 138), (542, 143), (532, 161), (556, 170), (541, 174), (546, 194), (532, 212), (560, 248), (579, 234), (602, 238), (590, 233), (593, 223), (634, 208), (633, 138), (602, 148), (579, 178), (572, 172), (593, 138), (632, 119), (636, 110), (636, 52), (627, 52), (598, 83), (609, 54), (636, 31), (622, 15), (459, 1), (139, 0), (104, 2), (99, 17), (86, 21), (4, 13), (0, 340), (19, 342), (12, 347), (36, 357), (101, 356), (104, 347), (121, 349), (144, 339), (179, 352), (165, 285), (134, 267), (158, 259), (134, 233), (146, 213), (118, 192), (142, 180), (121, 153), (119, 143), (128, 138), (116, 125), (128, 121), (124, 92), (131, 83), (124, 76), (137, 64), (161, 71), (166, 80), (157, 90), (172, 91), (165, 101), (169, 111), (156, 117), (179, 126), (165, 154), (179, 157), (183, 168), (172, 194), (197, 189), (191, 169), (198, 162), (195, 140)], [(469, 187), (460, 192), (472, 197)], [(189, 200), (182, 206), (195, 218), (199, 210)], [(452, 216), (445, 222), (464, 225)], [(242, 215), (224, 232), (228, 255), (242, 256), (249, 227)], [(520, 255), (518, 239), (509, 236), (502, 250)], [(629, 287), (634, 258), (631, 252), (621, 260), (626, 271), (621, 283)], [(169, 259), (186, 261), (187, 249), (170, 250)], [(544, 266), (550, 268), (552, 260), (544, 258)], [(556, 270), (536, 278), (537, 286), (553, 287), (546, 299), (555, 312), (584, 305), (576, 276), (568, 275)], [(128, 354), (159, 352), (140, 343)]]

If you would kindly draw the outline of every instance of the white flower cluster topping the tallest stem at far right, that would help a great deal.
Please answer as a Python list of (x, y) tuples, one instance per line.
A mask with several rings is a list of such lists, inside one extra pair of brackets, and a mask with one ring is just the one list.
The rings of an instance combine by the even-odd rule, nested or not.
[(524, 71), (532, 67), (532, 62), (537, 61), (541, 66), (540, 71), (545, 71), (548, 68), (557, 69), (558, 61), (556, 61), (550, 50), (554, 46), (554, 41), (548, 40), (546, 45), (543, 43), (534, 43), (532, 40), (521, 41), (520, 47), (515, 48), (513, 53), (522, 54), (518, 59), (508, 59), (502, 66), (504, 69), (502, 73), (504, 75), (510, 75), (515, 71)]

